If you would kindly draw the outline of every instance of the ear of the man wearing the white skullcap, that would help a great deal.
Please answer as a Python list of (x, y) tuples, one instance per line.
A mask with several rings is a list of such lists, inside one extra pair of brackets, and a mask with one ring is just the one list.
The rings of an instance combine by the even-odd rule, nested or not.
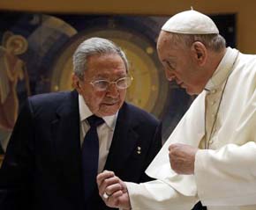
[(198, 65), (203, 66), (207, 62), (207, 48), (200, 41), (192, 43), (192, 56)]

